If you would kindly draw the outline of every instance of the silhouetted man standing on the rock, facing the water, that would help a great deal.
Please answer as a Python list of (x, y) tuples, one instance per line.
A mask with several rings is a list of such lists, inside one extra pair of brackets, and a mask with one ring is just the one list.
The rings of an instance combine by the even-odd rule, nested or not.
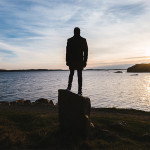
[(69, 66), (70, 75), (67, 90), (71, 90), (74, 70), (78, 74), (78, 94), (82, 95), (82, 70), (86, 67), (88, 46), (86, 39), (80, 36), (80, 29), (74, 28), (74, 36), (68, 39), (66, 46), (66, 65)]

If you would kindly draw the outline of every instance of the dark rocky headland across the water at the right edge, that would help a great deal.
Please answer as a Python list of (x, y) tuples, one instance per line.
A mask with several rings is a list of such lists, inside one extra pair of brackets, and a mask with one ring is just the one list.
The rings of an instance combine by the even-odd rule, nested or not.
[(136, 64), (127, 69), (127, 72), (150, 72), (150, 63), (149, 64)]

